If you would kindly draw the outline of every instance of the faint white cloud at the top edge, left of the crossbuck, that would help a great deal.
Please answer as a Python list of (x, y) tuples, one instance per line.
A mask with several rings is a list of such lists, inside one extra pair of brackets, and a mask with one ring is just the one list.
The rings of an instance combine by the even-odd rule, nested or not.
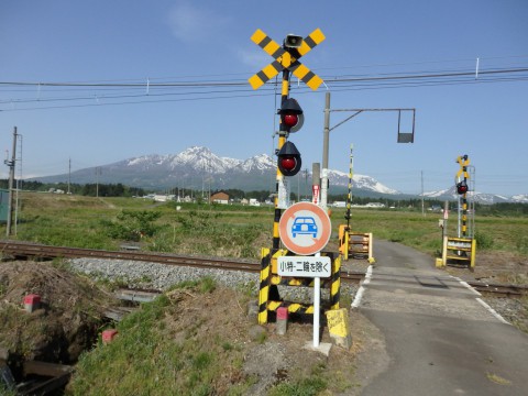
[(229, 23), (229, 18), (213, 10), (182, 1), (168, 13), (168, 23), (173, 34), (186, 43), (210, 40)]

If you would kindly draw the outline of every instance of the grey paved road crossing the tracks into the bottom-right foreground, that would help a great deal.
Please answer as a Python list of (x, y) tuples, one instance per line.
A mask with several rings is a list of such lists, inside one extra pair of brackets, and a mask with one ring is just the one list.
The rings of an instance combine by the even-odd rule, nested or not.
[(374, 255), (353, 305), (383, 333), (389, 362), (362, 395), (528, 394), (527, 334), (430, 256), (383, 241)]

